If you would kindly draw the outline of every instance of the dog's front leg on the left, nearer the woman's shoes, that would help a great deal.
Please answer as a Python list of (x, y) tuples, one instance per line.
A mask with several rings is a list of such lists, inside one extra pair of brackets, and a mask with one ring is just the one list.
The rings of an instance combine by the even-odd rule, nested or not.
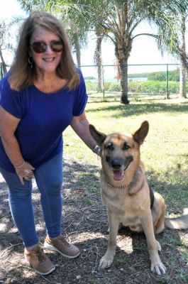
[(104, 269), (111, 266), (114, 261), (114, 256), (116, 254), (116, 236), (118, 234), (118, 219), (114, 214), (108, 212), (109, 219), (109, 245), (105, 255), (101, 258), (99, 263), (99, 268)]

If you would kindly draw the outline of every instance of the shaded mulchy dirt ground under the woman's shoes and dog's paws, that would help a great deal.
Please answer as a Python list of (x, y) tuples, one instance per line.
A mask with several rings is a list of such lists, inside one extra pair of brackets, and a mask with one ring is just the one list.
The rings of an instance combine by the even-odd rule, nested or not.
[[(83, 174), (84, 173), (84, 174)], [(1, 178), (1, 176), (0, 176)], [(118, 234), (116, 256), (111, 268), (99, 271), (108, 240), (106, 210), (101, 203), (99, 168), (82, 165), (72, 157), (65, 158), (63, 230), (81, 250), (78, 258), (62, 258), (46, 251), (56, 270), (42, 277), (24, 261), (23, 245), (9, 210), (8, 189), (0, 180), (0, 283), (52, 284), (132, 284), (188, 283), (188, 233), (165, 230), (157, 236), (162, 246), (160, 257), (167, 275), (150, 272), (150, 261), (144, 234), (128, 229)], [(45, 239), (40, 195), (33, 181), (33, 204), (40, 243)]]

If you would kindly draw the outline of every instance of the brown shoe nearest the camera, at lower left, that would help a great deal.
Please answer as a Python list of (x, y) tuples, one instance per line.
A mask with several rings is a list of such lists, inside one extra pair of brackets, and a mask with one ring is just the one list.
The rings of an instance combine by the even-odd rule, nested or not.
[(40, 249), (40, 246), (37, 246), (31, 251), (25, 249), (24, 256), (31, 267), (41, 275), (48, 275), (52, 271), (55, 271), (54, 264), (50, 261), (50, 258), (45, 255), (43, 249)]

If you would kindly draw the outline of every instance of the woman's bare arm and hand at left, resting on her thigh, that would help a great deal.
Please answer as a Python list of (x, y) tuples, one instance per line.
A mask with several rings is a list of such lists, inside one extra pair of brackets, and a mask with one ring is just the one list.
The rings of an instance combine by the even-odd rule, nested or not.
[(23, 178), (31, 179), (34, 168), (23, 160), (21, 150), (14, 135), (21, 119), (13, 116), (8, 111), (0, 107), (0, 136), (4, 145), (6, 155), (13, 164), (16, 173), (23, 184)]

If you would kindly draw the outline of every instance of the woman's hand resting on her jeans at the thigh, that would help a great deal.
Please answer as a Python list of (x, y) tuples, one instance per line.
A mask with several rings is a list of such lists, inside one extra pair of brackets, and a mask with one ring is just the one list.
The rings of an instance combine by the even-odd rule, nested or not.
[(21, 167), (15, 167), (15, 170), (19, 180), (21, 181), (21, 184), (23, 185), (23, 180), (31, 181), (33, 178), (33, 170), (35, 170), (35, 168), (33, 168), (30, 163), (24, 161), (23, 165)]

